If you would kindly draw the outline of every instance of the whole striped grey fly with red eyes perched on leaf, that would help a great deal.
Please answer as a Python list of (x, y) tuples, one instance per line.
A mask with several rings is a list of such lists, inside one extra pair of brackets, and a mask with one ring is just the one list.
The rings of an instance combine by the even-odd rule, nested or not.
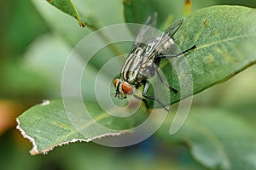
[[(156, 13), (151, 14), (146, 20), (145, 25), (154, 26), (156, 18)], [(160, 99), (147, 95), (148, 78), (157, 75), (157, 77), (160, 79), (160, 82), (164, 83), (167, 88), (170, 88), (170, 90), (177, 93), (177, 89), (172, 88), (168, 82), (163, 80), (157, 67), (160, 65), (161, 59), (174, 58), (196, 48), (194, 45), (182, 53), (165, 54), (167, 49), (174, 47), (175, 42), (173, 41), (172, 36), (176, 33), (182, 23), (183, 19), (177, 20), (159, 37), (154, 37), (147, 43), (142, 43), (142, 38), (147, 34), (148, 27), (143, 28), (139, 32), (137, 41), (134, 42), (131, 53), (128, 55), (127, 59), (125, 60), (125, 64), (122, 67), (120, 77), (114, 79), (113, 81), (114, 87), (116, 89), (115, 97), (118, 97), (119, 99), (125, 99), (127, 95), (134, 94), (137, 88), (143, 86), (143, 98), (154, 99), (161, 105), (161, 107), (168, 111)]]

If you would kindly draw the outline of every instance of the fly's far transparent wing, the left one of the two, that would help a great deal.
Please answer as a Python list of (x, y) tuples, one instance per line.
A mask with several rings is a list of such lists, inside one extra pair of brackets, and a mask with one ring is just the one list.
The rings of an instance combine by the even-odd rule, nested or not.
[(136, 48), (138, 44), (142, 42), (147, 42), (150, 38), (152, 38), (152, 35), (154, 35), (154, 29), (151, 27), (155, 27), (156, 20), (157, 20), (156, 12), (148, 16), (147, 20), (145, 21), (142, 28), (140, 29), (132, 48)]

